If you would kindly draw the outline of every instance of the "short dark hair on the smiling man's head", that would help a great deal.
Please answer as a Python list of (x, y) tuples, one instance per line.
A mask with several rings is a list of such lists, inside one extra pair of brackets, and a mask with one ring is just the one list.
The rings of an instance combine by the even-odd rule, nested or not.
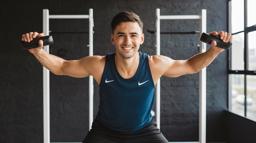
[(129, 11), (124, 11), (121, 13), (118, 13), (111, 22), (112, 27), (112, 34), (114, 34), (115, 29), (117, 28), (117, 25), (121, 22), (137, 22), (141, 28), (141, 31), (143, 30), (143, 23), (140, 20), (140, 17)]

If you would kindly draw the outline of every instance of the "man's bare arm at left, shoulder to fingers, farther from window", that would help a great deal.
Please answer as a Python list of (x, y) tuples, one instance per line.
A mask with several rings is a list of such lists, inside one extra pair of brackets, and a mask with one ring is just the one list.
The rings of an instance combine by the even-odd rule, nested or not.
[[(25, 35), (22, 35), (22, 41), (30, 42), (36, 36), (42, 37), (43, 33), (38, 34), (37, 32), (30, 32)], [(101, 63), (103, 56), (88, 56), (80, 60), (66, 61), (63, 58), (48, 54), (43, 50), (43, 41), (38, 41), (39, 47), (29, 49), (29, 52), (34, 54), (36, 59), (49, 71), (56, 75), (66, 75), (77, 78), (86, 77), (92, 74), (97, 74), (101, 71)], [(93, 75), (93, 76), (94, 76)], [(96, 78), (101, 74), (95, 75)], [(94, 77), (95, 78), (95, 77)], [(97, 79), (96, 79), (97, 80)], [(98, 81), (97, 81), (98, 82)]]

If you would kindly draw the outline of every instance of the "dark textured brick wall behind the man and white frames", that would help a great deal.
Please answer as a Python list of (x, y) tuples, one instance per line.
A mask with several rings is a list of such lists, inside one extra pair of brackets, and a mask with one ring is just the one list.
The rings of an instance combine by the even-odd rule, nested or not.
[[(26, 0), (0, 5), (0, 142), (43, 142), (42, 66), (19, 46), (21, 35), (42, 32), (43, 9), (50, 15), (88, 14), (94, 10), (94, 54), (115, 52), (110, 42), (112, 17), (133, 11), (144, 22), (145, 42), (140, 51), (155, 54), (155, 9), (161, 15), (198, 15), (207, 9), (207, 32), (227, 30), (227, 0)], [(88, 20), (50, 20), (50, 30), (88, 31)], [(199, 30), (198, 20), (162, 20), (161, 31)], [(52, 34), (51, 53), (65, 48), (66, 60), (88, 56), (87, 34)], [(199, 35), (161, 35), (161, 53), (187, 59), (198, 53)], [(58, 55), (57, 55), (58, 56)], [(199, 74), (162, 78), (161, 130), (168, 141), (198, 141)], [(50, 73), (51, 142), (81, 142), (88, 132), (88, 78)], [(94, 117), (99, 106), (99, 86), (94, 81)], [(155, 108), (154, 108), (155, 109)], [(207, 67), (207, 141), (224, 142), (223, 111), (227, 110), (227, 51)]]

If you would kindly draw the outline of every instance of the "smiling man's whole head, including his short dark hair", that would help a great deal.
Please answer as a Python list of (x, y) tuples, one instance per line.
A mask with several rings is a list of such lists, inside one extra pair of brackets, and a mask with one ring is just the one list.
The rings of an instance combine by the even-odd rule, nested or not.
[(144, 42), (143, 24), (138, 15), (132, 12), (117, 14), (112, 22), (111, 41), (115, 45), (117, 55), (123, 58), (133, 57)]

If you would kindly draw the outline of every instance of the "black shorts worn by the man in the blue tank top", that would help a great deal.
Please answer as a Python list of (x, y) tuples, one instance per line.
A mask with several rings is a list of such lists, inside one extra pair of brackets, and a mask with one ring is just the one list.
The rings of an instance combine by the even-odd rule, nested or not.
[(117, 132), (101, 124), (97, 119), (92, 122), (83, 143), (169, 143), (157, 128), (154, 119), (141, 130), (129, 133)]

